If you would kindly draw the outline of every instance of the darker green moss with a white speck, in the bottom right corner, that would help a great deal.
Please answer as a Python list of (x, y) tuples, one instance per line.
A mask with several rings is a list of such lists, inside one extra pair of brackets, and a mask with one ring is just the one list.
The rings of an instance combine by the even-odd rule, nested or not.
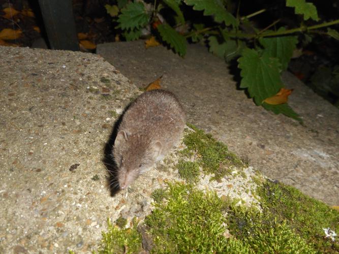
[(298, 233), (319, 252), (339, 252), (336, 241), (324, 237), (323, 228), (339, 232), (339, 212), (321, 201), (302, 194), (292, 186), (266, 180), (258, 188), (263, 209), (278, 219), (286, 220)]

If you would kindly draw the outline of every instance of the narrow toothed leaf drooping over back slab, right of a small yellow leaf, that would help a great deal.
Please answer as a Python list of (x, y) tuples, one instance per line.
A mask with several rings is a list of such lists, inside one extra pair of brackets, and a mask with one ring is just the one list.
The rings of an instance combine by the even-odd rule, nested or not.
[(179, 35), (178, 32), (168, 24), (160, 24), (157, 26), (157, 29), (161, 38), (167, 42), (176, 53), (180, 56), (186, 54), (186, 39), (182, 35)]

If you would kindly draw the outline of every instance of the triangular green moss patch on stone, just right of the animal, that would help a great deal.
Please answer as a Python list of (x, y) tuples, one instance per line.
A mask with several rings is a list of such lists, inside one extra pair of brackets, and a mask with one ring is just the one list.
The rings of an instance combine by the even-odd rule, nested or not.
[(190, 155), (192, 151), (198, 153), (198, 160), (206, 173), (214, 173), (215, 178), (222, 178), (231, 173), (231, 166), (243, 167), (245, 164), (233, 153), (229, 152), (227, 146), (216, 141), (210, 134), (205, 134), (194, 125), (188, 124), (194, 132), (186, 131), (183, 143), (187, 148), (182, 151)]

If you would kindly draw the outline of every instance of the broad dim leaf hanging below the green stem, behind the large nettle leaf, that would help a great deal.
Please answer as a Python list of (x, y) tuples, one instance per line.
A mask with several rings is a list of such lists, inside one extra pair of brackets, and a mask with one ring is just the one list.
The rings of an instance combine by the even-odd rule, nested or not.
[[(278, 31), (286, 30), (281, 27)], [(292, 57), (293, 50), (296, 48), (298, 39), (296, 36), (281, 36), (259, 39), (261, 45), (264, 46), (265, 52), (271, 57), (276, 57), (280, 60), (282, 69), (286, 70), (287, 65)]]

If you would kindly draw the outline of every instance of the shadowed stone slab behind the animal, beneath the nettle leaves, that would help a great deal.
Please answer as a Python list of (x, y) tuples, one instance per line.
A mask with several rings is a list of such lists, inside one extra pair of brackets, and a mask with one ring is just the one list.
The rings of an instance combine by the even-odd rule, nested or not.
[(283, 80), (294, 88), (289, 104), (304, 125), (255, 106), (236, 89), (235, 72), (201, 45), (190, 45), (184, 58), (162, 46), (146, 50), (143, 41), (98, 45), (97, 53), (139, 87), (163, 76), (189, 122), (268, 177), (339, 204), (339, 111), (292, 74)]

